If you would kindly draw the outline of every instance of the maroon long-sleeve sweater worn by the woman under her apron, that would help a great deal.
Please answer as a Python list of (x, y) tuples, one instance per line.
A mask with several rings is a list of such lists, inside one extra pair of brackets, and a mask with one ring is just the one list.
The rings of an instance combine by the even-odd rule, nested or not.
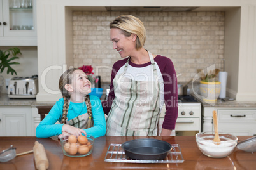
[[(111, 74), (111, 84), (110, 84), (110, 93), (108, 95), (108, 99), (102, 102), (103, 110), (106, 115), (110, 112), (111, 105), (115, 98), (115, 92), (113, 87), (113, 79), (117, 74), (120, 67), (125, 65), (128, 58), (123, 60), (119, 60), (114, 63)], [(173, 62), (171, 59), (157, 55), (154, 58), (155, 62), (159, 66), (162, 77), (164, 79), (164, 100), (166, 105), (166, 115), (164, 117), (164, 122), (162, 124), (162, 128), (164, 129), (175, 129), (176, 120), (178, 117), (178, 89), (177, 89), (177, 77), (174, 69)], [(146, 67), (150, 65), (151, 62), (137, 65), (129, 60), (129, 65), (132, 67)]]

